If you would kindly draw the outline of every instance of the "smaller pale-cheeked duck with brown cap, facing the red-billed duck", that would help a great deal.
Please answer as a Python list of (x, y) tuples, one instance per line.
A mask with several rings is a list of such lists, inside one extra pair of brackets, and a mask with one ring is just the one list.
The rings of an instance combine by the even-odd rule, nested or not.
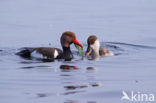
[(86, 57), (90, 56), (91, 59), (97, 59), (100, 56), (113, 56), (114, 53), (108, 48), (104, 48), (100, 46), (100, 41), (95, 35), (91, 35), (87, 40), (87, 50)]

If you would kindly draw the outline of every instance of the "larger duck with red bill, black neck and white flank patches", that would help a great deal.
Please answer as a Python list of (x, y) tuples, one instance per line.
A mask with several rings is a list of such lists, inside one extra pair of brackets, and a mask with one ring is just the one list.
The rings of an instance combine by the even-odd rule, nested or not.
[(70, 45), (74, 43), (75, 45), (83, 48), (83, 45), (76, 39), (75, 33), (71, 31), (62, 33), (62, 36), (60, 37), (60, 43), (62, 50), (51, 47), (25, 47), (17, 52), (16, 55), (24, 58), (30, 58), (34, 55), (37, 55), (37, 57), (40, 56), (40, 58), (43, 59), (64, 59), (65, 61), (71, 61), (71, 59), (73, 59), (73, 54), (71, 52)]

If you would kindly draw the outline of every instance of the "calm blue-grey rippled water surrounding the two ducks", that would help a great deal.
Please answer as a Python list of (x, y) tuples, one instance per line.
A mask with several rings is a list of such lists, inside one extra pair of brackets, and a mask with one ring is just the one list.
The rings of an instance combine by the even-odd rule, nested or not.
[[(1, 0), (1, 103), (121, 103), (122, 91), (156, 95), (155, 0)], [(98, 61), (26, 60), (21, 47), (59, 47), (64, 31), (117, 55)], [(71, 47), (75, 51), (75, 47)], [(125, 101), (126, 102), (126, 101)]]

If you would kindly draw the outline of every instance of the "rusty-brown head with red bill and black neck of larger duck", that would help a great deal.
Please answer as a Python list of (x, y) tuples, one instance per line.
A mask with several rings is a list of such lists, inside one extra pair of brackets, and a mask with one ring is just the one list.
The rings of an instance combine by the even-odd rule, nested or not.
[(61, 46), (63, 48), (63, 58), (65, 61), (70, 61), (73, 58), (73, 54), (70, 50), (70, 45), (72, 43), (83, 47), (82, 44), (79, 43), (79, 41), (76, 39), (76, 36), (73, 32), (66, 31), (61, 36)]

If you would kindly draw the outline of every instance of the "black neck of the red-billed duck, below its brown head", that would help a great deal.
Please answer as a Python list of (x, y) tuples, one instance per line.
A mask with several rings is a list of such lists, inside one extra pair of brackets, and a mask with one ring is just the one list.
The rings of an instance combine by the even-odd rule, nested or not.
[(63, 58), (65, 59), (65, 61), (71, 61), (71, 59), (73, 58), (70, 47), (63, 47)]

